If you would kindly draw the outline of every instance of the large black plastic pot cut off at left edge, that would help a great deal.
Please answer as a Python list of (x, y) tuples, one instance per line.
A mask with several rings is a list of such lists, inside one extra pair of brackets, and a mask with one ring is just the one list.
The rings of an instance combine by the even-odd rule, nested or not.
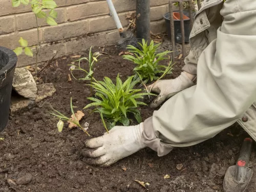
[(17, 55), (10, 49), (0, 47), (0, 132), (8, 124), (12, 80), (17, 63)]

